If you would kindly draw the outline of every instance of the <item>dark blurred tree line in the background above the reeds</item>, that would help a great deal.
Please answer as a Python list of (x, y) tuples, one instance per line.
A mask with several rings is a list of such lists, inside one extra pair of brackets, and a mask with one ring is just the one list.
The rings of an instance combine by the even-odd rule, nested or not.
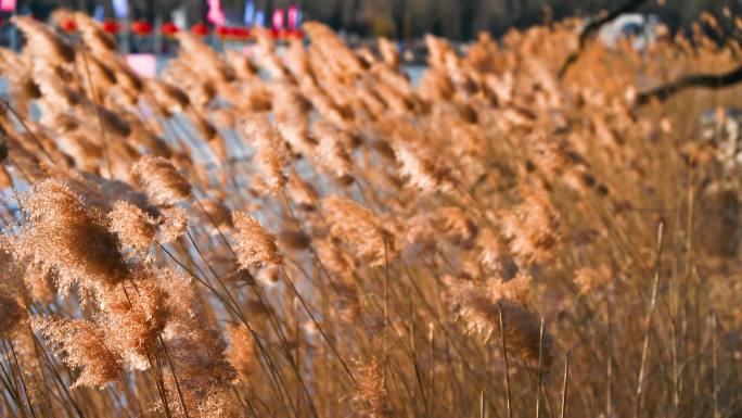
[[(592, 15), (614, 9), (627, 0), (222, 0), (228, 21), (241, 23), (248, 4), (255, 11), (271, 16), (279, 8), (295, 4), (304, 20), (317, 20), (347, 34), (413, 39), (426, 33), (449, 39), (469, 40), (481, 30), (501, 35), (510, 27), (572, 15)], [(85, 9), (105, 17), (114, 16), (116, 0), (17, 0), (17, 9), (46, 20), (56, 8)], [(189, 24), (206, 21), (205, 0), (130, 0), (129, 17), (156, 22), (169, 21), (181, 13)], [(702, 11), (720, 15), (727, 8), (733, 15), (742, 14), (742, 0), (649, 0), (639, 10), (656, 14), (671, 30), (695, 21)]]

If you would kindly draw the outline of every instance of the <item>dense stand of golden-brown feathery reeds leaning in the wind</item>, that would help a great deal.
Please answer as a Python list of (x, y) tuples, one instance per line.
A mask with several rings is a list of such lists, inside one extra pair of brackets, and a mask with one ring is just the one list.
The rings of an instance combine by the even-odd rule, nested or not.
[(740, 90), (634, 103), (738, 40), (431, 36), (413, 86), (307, 23), (145, 79), (74, 18), (0, 50), (0, 415), (741, 414)]

